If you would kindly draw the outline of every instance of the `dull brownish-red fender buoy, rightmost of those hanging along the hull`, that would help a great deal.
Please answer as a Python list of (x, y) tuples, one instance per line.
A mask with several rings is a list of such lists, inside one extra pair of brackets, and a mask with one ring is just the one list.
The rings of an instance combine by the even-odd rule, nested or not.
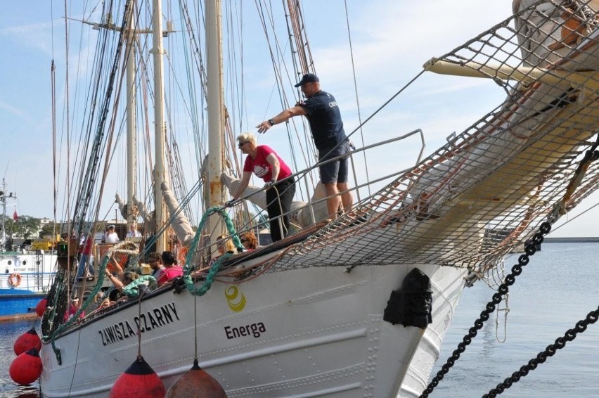
[(226, 393), (217, 379), (203, 371), (198, 359), (194, 359), (191, 369), (176, 380), (167, 392), (167, 398), (179, 397), (226, 398)]

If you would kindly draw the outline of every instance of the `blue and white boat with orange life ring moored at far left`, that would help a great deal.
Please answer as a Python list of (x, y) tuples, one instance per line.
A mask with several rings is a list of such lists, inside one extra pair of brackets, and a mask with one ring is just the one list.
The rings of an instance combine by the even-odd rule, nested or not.
[(51, 248), (36, 249), (31, 242), (15, 247), (10, 244), (6, 234), (6, 207), (16, 200), (16, 195), (6, 191), (6, 181), (2, 179), (0, 321), (37, 317), (35, 307), (48, 295), (56, 273), (56, 254)]

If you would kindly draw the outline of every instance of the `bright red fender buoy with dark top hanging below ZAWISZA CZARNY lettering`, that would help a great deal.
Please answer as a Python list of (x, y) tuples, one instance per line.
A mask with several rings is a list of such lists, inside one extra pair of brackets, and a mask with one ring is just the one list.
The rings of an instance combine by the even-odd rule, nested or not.
[(110, 389), (110, 398), (160, 397), (167, 393), (165, 385), (141, 355), (115, 381)]

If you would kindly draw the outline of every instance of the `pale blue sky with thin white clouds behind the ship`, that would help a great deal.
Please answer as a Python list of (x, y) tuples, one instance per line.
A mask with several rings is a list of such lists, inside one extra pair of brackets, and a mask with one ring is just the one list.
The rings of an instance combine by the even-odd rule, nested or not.
[[(69, 6), (77, 4), (71, 3)], [(346, 3), (353, 67), (347, 41)], [(4, 55), (0, 63), (0, 177), (6, 179), (7, 191), (19, 197), (18, 214), (52, 219), (51, 62), (56, 60), (60, 76), (64, 51), (60, 15), (64, 4), (50, 0), (28, 0), (26, 4), (5, 7), (0, 13), (0, 49)], [(354, 70), (364, 119), (415, 77), (427, 60), (508, 18), (512, 1), (304, 0), (303, 4), (316, 72), (323, 89), (333, 93), (340, 103), (346, 131), (352, 131), (359, 125)], [(249, 131), (255, 131), (256, 124), (281, 111), (280, 103), (269, 97), (268, 90), (252, 86), (255, 81), (255, 86), (269, 87), (273, 79), (271, 74), (259, 72), (261, 68), (266, 70), (268, 64), (259, 63), (258, 54), (256, 58), (247, 94), (252, 108), (244, 128)], [(369, 131), (375, 132), (366, 137), (367, 144), (421, 128), (430, 153), (453, 131), (459, 133), (495, 108), (504, 96), (503, 91), (484, 79), (472, 81), (430, 73), (423, 79), (424, 89), (394, 101), (390, 105), (392, 112), (373, 120)], [(472, 87), (484, 94), (468, 103), (451, 101), (454, 95)], [(422, 108), (418, 107), (424, 105), (428, 109), (434, 105), (435, 114), (422, 117)], [(276, 142), (275, 138), (269, 139)], [(413, 145), (398, 148), (393, 160), (413, 162), (416, 150)], [(592, 204), (583, 203), (581, 208)], [(12, 214), (13, 210), (7, 212)], [(573, 217), (569, 215), (568, 219)], [(550, 236), (599, 236), (593, 222), (596, 217), (597, 212), (591, 210), (560, 226)]]

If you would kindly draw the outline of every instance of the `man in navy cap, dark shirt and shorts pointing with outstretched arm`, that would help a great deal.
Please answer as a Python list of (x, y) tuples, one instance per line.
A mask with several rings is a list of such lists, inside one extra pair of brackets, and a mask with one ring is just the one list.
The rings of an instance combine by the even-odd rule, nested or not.
[[(297, 103), (293, 108), (283, 110), (275, 117), (258, 124), (259, 133), (275, 124), (283, 123), (290, 117), (304, 115), (312, 131), (312, 139), (318, 150), (318, 161), (324, 162), (349, 152), (349, 140), (343, 130), (341, 113), (335, 97), (321, 90), (318, 77), (308, 73), (302, 77), (296, 87), (302, 87), (306, 101)], [(340, 204), (344, 211), (349, 211), (354, 202), (352, 193), (348, 191), (347, 177), (349, 173), (349, 158), (347, 156), (328, 162), (318, 167), (321, 181), (326, 189), (328, 217), (337, 218)], [(341, 192), (341, 198), (339, 193)]]

